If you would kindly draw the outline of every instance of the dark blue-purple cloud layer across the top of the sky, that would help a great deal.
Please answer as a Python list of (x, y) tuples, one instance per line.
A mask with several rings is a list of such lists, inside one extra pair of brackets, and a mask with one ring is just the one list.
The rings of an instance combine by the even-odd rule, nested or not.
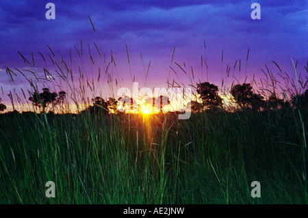
[[(289, 58), (307, 54), (306, 1), (259, 1), (261, 20), (251, 19), (253, 1), (53, 1), (56, 19), (45, 19), (44, 1), (0, 2), (0, 67), (20, 64), (17, 50), (31, 54), (74, 51), (80, 40), (87, 48), (99, 40), (102, 49), (125, 53), (125, 44), (149, 59), (193, 56), (203, 40), (209, 51), (225, 49), (241, 56), (248, 47), (263, 53), (260, 61), (285, 52)], [(94, 23), (94, 34), (88, 15)], [(283, 45), (283, 46), (282, 46)], [(201, 49), (200, 49), (201, 48)], [(149, 51), (147, 51), (149, 49)], [(242, 52), (244, 51), (244, 52)], [(213, 56), (214, 57), (214, 56)], [(219, 58), (218, 58), (219, 59)], [(170, 62), (170, 60), (168, 60)], [(197, 62), (197, 61), (196, 61)], [(23, 62), (21, 62), (23, 64)]]

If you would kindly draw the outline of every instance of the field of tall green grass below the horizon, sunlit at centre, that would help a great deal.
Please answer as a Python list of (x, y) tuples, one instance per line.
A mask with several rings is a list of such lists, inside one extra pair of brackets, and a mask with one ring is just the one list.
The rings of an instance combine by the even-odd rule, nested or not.
[(308, 203), (307, 111), (142, 116), (2, 114), (1, 204)]

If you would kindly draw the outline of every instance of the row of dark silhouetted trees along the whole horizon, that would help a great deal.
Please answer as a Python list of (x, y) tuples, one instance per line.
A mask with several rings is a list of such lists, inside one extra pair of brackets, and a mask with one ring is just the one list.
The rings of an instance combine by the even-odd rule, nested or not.
[[(305, 90), (302, 94), (292, 95), (290, 99), (280, 99), (277, 97), (276, 93), (271, 93), (268, 99), (264, 99), (263, 96), (253, 93), (253, 87), (251, 84), (236, 84), (232, 86), (230, 91), (232, 97), (235, 100), (235, 104), (238, 106), (240, 110), (273, 110), (273, 109), (283, 109), (290, 108), (291, 106), (294, 108), (307, 108), (308, 106), (308, 89)], [(200, 101), (191, 101), (190, 106), (192, 112), (205, 112), (207, 110), (224, 110), (224, 103), (222, 97), (218, 95), (218, 86), (215, 84), (210, 84), (209, 82), (202, 82), (196, 84), (196, 93), (198, 94), (198, 98)], [(39, 93), (37, 90), (34, 93), (31, 93), (29, 97), (29, 101), (32, 102), (33, 106), (36, 106), (40, 109), (42, 113), (53, 113), (54, 106), (64, 104), (66, 99), (66, 93), (62, 90), (59, 93), (51, 93), (49, 88), (42, 88), (42, 93)], [(170, 101), (168, 97), (160, 95), (155, 99), (147, 99), (146, 102), (152, 102), (153, 108), (159, 108), (159, 112), (162, 112), (163, 106), (168, 106)], [(109, 97), (107, 100), (102, 97), (95, 97), (92, 99), (92, 105), (88, 106), (86, 110), (82, 112), (90, 112), (97, 113), (101, 112), (104, 114), (107, 113), (121, 113), (125, 112), (124, 110), (118, 111), (118, 103), (123, 102), (122, 105), (125, 107), (125, 104), (130, 105), (130, 110), (134, 108), (139, 110), (138, 104), (136, 101), (131, 98), (125, 96), (118, 98), (117, 100)], [(156, 106), (155, 102), (159, 102), (159, 105)], [(6, 106), (4, 104), (0, 104), (0, 112), (6, 110)], [(127, 109), (127, 108), (126, 108)], [(13, 112), (8, 112), (10, 114), (18, 114), (17, 110)], [(25, 113), (25, 112), (23, 112)]]

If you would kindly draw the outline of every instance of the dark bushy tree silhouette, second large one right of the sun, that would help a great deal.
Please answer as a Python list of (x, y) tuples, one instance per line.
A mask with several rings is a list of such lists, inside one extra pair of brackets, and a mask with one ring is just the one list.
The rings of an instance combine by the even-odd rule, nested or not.
[(237, 84), (231, 88), (231, 95), (241, 108), (258, 110), (264, 105), (264, 97), (253, 93), (251, 84)]

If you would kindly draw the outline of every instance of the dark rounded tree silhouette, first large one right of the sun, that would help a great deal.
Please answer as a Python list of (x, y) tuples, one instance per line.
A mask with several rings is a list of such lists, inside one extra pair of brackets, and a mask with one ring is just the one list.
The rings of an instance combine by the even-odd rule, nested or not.
[(218, 95), (218, 86), (203, 82), (197, 84), (197, 93), (200, 95), (202, 104), (209, 110), (222, 107), (222, 98)]

